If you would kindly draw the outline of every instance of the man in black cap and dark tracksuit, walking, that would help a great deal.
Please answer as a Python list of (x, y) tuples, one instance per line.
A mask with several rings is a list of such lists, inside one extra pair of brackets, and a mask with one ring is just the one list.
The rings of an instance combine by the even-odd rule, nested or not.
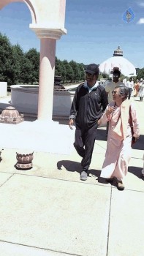
[(99, 67), (96, 64), (88, 65), (86, 82), (77, 87), (69, 116), (69, 127), (72, 127), (75, 119), (74, 146), (80, 157), (83, 157), (83, 171), (80, 174), (83, 181), (87, 179), (88, 167), (91, 164), (99, 118), (108, 104), (105, 88), (96, 81), (98, 76)]

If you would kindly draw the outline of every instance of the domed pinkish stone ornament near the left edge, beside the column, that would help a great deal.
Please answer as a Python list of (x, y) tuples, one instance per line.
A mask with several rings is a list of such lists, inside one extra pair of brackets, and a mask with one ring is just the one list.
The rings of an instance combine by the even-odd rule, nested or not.
[(19, 115), (18, 110), (10, 106), (5, 108), (0, 115), (0, 123), (19, 124), (24, 121), (23, 114)]

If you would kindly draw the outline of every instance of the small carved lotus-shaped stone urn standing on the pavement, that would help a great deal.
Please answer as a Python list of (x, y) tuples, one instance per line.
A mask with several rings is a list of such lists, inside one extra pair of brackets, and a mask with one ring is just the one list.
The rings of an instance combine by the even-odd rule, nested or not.
[(16, 154), (17, 154), (16, 159), (18, 162), (16, 163), (15, 167), (17, 169), (29, 170), (32, 168), (32, 160), (34, 158), (33, 156), (34, 152), (29, 154), (20, 154), (16, 152)]

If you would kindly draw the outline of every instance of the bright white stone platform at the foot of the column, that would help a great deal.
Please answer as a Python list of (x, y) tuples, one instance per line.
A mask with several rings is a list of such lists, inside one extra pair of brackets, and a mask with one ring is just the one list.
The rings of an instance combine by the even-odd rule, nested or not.
[(23, 121), (17, 126), (0, 124), (1, 148), (23, 149), (29, 152), (70, 154), (75, 140), (75, 127), (55, 121)]

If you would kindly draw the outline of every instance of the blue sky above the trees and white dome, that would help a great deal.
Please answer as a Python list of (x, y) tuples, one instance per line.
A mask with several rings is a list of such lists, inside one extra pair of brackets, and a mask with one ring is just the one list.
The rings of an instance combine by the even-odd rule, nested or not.
[[(129, 7), (134, 20), (127, 23), (123, 17)], [(0, 10), (0, 31), (12, 45), (39, 50), (39, 39), (29, 23), (26, 4), (15, 2)], [(58, 59), (101, 64), (119, 45), (135, 67), (144, 67), (144, 0), (67, 0), (65, 28), (67, 35), (56, 43)]]

